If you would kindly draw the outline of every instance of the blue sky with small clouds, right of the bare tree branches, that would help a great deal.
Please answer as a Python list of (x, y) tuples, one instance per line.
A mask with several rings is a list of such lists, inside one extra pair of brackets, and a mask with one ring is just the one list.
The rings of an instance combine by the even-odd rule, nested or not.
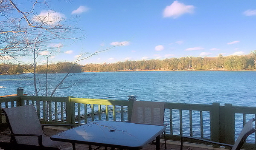
[(74, 61), (81, 53), (120, 43), (79, 63), (246, 55), (256, 50), (256, 0), (73, 0), (55, 1), (51, 7), (60, 17), (76, 17), (78, 22), (71, 23), (86, 35), (63, 46), (53, 61)]

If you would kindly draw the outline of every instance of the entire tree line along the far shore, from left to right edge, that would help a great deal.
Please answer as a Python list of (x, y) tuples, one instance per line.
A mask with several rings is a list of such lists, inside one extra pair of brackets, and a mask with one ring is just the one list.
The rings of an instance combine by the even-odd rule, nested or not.
[[(26, 68), (26, 69), (25, 69)], [(33, 69), (33, 65), (0, 64), (0, 74), (22, 74)], [(243, 56), (218, 57), (180, 57), (170, 59), (151, 59), (125, 61), (112, 64), (79, 65), (74, 62), (58, 62), (50, 65), (37, 65), (37, 73), (78, 73), (84, 71), (139, 71), (139, 70), (254, 70), (256, 69), (256, 51)]]

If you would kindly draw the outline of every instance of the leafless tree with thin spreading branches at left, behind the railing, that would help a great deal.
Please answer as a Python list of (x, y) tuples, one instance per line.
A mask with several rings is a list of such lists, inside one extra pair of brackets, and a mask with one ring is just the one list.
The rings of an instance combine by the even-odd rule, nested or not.
[[(27, 9), (22, 10), (21, 8)], [(38, 8), (47, 11), (38, 12)], [(60, 49), (64, 46), (61, 42), (63, 43), (67, 39), (74, 41), (84, 39), (83, 35), (79, 34), (78, 37), (76, 34), (81, 30), (70, 26), (70, 20), (66, 20), (63, 14), (53, 11), (46, 0), (26, 1), (26, 4), (20, 4), (15, 0), (0, 0), (0, 27), (0, 61), (18, 63), (26, 72), (33, 74), (35, 96), (38, 96), (42, 86), (42, 81), (36, 72), (38, 64), (42, 64), (42, 59), (48, 67), (49, 58), (61, 52)], [(52, 45), (52, 43), (56, 44)], [(124, 45), (124, 43), (120, 45)], [(74, 75), (72, 70), (79, 61), (108, 49), (110, 48), (92, 54), (81, 52), (79, 58), (52, 91), (49, 91), (48, 88), (48, 73), (46, 71), (46, 83), (44, 83), (46, 94), (44, 95), (53, 96), (55, 91), (63, 85), (64, 80)], [(24, 59), (27, 61), (24, 62)], [(31, 68), (25, 64), (32, 64)], [(66, 85), (65, 88), (72, 85)]]

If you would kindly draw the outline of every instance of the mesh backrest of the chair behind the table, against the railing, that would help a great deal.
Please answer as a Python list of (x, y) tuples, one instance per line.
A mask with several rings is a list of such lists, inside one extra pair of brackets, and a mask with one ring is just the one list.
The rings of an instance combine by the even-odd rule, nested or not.
[(134, 101), (132, 123), (163, 125), (165, 102)]

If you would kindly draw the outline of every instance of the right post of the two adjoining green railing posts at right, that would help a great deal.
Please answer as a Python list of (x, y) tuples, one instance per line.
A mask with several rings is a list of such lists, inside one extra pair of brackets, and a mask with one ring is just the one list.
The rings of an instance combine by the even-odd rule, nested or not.
[(221, 142), (234, 144), (235, 142), (235, 113), (232, 104), (225, 104), (220, 113)]

